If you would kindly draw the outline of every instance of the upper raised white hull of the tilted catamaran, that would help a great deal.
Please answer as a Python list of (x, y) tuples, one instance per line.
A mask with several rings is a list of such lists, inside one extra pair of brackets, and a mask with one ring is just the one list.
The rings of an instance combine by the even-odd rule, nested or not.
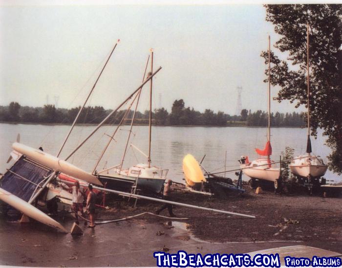
[(73, 176), (80, 180), (84, 180), (89, 183), (102, 185), (102, 183), (94, 175), (85, 172), (62, 159), (59, 159), (56, 156), (44, 153), (41, 150), (34, 149), (32, 147), (23, 145), (18, 142), (13, 143), (12, 148), (16, 152), (24, 154), (33, 161), (36, 161), (54, 171), (63, 172), (65, 174), (68, 174), (70, 176)]

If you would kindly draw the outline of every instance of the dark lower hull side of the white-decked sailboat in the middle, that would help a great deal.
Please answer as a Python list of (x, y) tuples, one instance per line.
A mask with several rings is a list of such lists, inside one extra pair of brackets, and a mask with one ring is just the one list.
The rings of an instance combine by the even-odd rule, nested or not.
[[(100, 175), (100, 181), (105, 185), (107, 189), (112, 190), (125, 190), (130, 191), (132, 186), (134, 185), (136, 179), (129, 178), (126, 176), (111, 176), (111, 175)], [(152, 191), (152, 192), (161, 192), (164, 187), (165, 179), (150, 179), (150, 178), (139, 178), (137, 188)]]

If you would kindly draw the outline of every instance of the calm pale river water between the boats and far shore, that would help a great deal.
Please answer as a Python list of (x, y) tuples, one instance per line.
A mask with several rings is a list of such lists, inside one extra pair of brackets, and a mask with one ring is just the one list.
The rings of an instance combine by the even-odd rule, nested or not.
[[(0, 172), (5, 172), (8, 167), (6, 161), (11, 152), (11, 144), (16, 141), (17, 134), (21, 134), (21, 143), (28, 146), (43, 149), (47, 153), (57, 154), (69, 131), (70, 126), (48, 125), (24, 125), (24, 124), (0, 124)], [(83, 141), (95, 127), (76, 126), (66, 143), (61, 157), (65, 158), (75, 147)], [(120, 127), (100, 162), (98, 171), (117, 165), (121, 162), (128, 135), (128, 126)], [(97, 162), (103, 148), (108, 142), (115, 127), (101, 127), (83, 147), (80, 148), (69, 161), (74, 165), (91, 172)], [(306, 149), (306, 130), (298, 128), (272, 129), (272, 147), (274, 160), (285, 150), (285, 146), (295, 149), (295, 154), (304, 153)], [(325, 138), (319, 135), (317, 140), (312, 139), (313, 153), (326, 158), (330, 149), (324, 145)], [(152, 164), (169, 169), (168, 177), (176, 181), (182, 181), (182, 159), (187, 153), (191, 153), (200, 160), (206, 154), (203, 166), (210, 172), (224, 171), (225, 153), (227, 151), (226, 169), (238, 168), (237, 160), (241, 155), (249, 155), (250, 159), (257, 157), (254, 148), (263, 148), (266, 141), (265, 128), (245, 127), (152, 127)], [(142, 152), (148, 153), (148, 127), (137, 126), (133, 128), (131, 141)], [(128, 149), (124, 167), (146, 162), (146, 157), (133, 148)], [(233, 172), (227, 174), (235, 178)], [(330, 171), (325, 174), (328, 180), (342, 181)], [(244, 179), (248, 179), (245, 177)]]

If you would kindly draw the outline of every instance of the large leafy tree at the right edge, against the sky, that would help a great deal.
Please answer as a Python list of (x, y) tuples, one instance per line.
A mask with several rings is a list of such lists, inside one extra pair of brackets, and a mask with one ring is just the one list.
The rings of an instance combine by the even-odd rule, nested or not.
[[(330, 169), (342, 174), (342, 5), (265, 5), (266, 20), (281, 36), (275, 47), (288, 55), (280, 60), (271, 53), (271, 83), (280, 86), (279, 102), (307, 105), (306, 25), (310, 25), (310, 123), (313, 135), (323, 129)], [(262, 52), (268, 63), (268, 55)], [(294, 67), (289, 67), (289, 63)], [(266, 71), (267, 72), (267, 71)], [(265, 81), (268, 81), (267, 79)]]

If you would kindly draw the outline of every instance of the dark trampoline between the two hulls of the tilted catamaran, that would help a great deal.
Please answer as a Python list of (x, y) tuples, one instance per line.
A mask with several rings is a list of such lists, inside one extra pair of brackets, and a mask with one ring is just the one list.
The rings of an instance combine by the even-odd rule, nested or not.
[(37, 185), (42, 185), (43, 179), (51, 172), (52, 170), (22, 155), (3, 175), (0, 180), (0, 187), (28, 202)]

